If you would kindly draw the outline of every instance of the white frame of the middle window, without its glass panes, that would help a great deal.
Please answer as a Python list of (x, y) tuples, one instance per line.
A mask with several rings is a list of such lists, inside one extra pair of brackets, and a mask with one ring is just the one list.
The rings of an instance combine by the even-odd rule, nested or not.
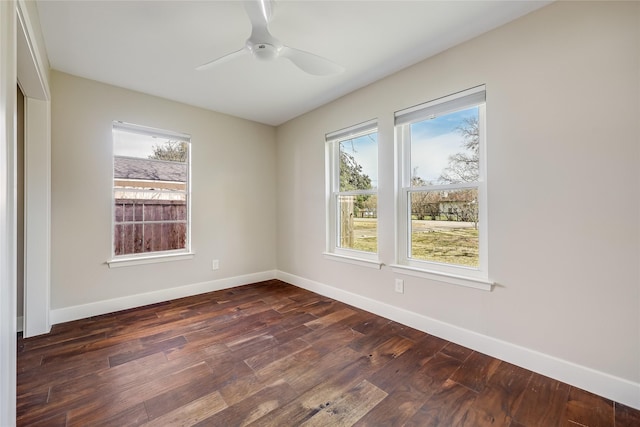
[(377, 133), (378, 121), (369, 120), (331, 132), (325, 135), (325, 166), (326, 171), (326, 251), (325, 258), (347, 262), (350, 264), (360, 265), (363, 267), (372, 267), (380, 269), (382, 263), (378, 259), (378, 251), (380, 250), (379, 227), (376, 227), (376, 241), (378, 243), (378, 251), (366, 252), (356, 249), (342, 248), (339, 246), (339, 209), (338, 199), (340, 196), (358, 196), (358, 195), (378, 195), (378, 189), (372, 190), (354, 190), (340, 191), (340, 143), (350, 139), (358, 138), (364, 135)]

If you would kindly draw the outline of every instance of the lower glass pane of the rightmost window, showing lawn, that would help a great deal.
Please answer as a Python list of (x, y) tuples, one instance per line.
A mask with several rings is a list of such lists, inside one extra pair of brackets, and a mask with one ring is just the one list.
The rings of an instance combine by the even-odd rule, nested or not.
[(411, 191), (409, 257), (479, 266), (478, 190)]

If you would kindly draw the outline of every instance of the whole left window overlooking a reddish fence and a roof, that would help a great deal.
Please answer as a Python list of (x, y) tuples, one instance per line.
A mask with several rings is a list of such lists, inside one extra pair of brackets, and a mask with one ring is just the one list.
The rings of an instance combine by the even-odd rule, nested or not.
[(190, 250), (190, 137), (113, 123), (112, 258)]

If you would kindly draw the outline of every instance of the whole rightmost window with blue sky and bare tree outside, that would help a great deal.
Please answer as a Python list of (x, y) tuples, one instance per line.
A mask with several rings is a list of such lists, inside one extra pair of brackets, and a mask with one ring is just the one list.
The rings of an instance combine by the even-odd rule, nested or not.
[(484, 86), (399, 111), (395, 124), (400, 266), (489, 283)]

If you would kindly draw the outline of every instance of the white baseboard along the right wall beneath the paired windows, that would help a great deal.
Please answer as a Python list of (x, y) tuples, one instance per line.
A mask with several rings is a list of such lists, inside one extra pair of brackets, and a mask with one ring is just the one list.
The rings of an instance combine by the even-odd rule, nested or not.
[(623, 405), (640, 409), (640, 383), (577, 365), (516, 344), (411, 312), (362, 295), (278, 271), (284, 282), (370, 311), (403, 325), (455, 342), (541, 375), (590, 391)]

